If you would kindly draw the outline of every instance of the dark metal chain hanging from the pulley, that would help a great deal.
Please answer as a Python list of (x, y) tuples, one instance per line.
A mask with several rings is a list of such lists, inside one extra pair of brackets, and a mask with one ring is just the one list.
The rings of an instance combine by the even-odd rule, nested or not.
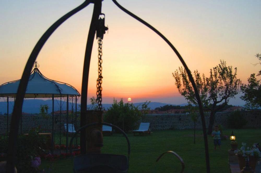
[(102, 110), (102, 39), (98, 39), (98, 79), (97, 79), (97, 104), (98, 110)]

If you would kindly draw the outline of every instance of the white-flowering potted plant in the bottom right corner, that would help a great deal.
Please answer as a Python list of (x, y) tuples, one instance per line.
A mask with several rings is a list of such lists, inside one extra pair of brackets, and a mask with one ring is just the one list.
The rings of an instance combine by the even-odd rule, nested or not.
[(249, 158), (249, 166), (252, 170), (255, 170), (257, 161), (261, 158), (261, 152), (253, 145), (252, 147), (247, 147), (246, 143), (242, 143), (242, 147), (239, 150), (235, 150), (238, 156), (238, 162), (240, 170), (246, 166), (246, 159)]

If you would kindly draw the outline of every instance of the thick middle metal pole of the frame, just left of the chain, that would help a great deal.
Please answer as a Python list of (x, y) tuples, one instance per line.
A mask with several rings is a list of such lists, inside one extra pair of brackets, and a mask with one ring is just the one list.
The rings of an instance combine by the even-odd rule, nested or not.
[[(92, 55), (92, 46), (95, 36), (95, 31), (98, 26), (99, 15), (102, 9), (102, 1), (96, 0), (94, 2), (92, 20), (90, 24), (90, 29), (88, 33), (88, 39), (85, 49), (84, 56), (84, 65), (82, 72), (82, 88), (81, 88), (81, 120), (80, 126), (84, 126), (86, 124), (86, 110), (87, 110), (87, 90), (88, 90), (88, 79), (89, 79), (89, 70), (90, 70), (90, 61)], [(81, 154), (86, 154), (86, 132), (82, 131), (80, 134), (80, 146), (81, 146)]]

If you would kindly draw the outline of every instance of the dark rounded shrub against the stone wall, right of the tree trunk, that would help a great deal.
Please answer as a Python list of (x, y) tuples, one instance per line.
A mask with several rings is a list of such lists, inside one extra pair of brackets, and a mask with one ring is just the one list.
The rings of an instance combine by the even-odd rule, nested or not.
[(228, 125), (233, 129), (241, 129), (246, 125), (247, 120), (242, 116), (240, 111), (235, 111), (230, 114), (228, 118)]

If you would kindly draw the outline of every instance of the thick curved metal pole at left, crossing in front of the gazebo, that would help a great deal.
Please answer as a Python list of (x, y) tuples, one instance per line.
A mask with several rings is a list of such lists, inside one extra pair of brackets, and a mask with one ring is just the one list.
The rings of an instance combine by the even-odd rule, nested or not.
[(72, 11), (68, 12), (67, 14), (62, 16), (60, 19), (58, 19), (54, 24), (52, 24), (51, 27), (45, 31), (43, 36), (41, 36), (39, 41), (36, 43), (31, 55), (28, 58), (28, 61), (26, 63), (25, 69), (22, 74), (22, 78), (21, 78), (19, 87), (17, 89), (17, 95), (16, 95), (15, 104), (14, 104), (13, 115), (11, 118), (11, 126), (10, 126), (9, 141), (8, 141), (7, 172), (14, 172), (19, 121), (20, 121), (21, 114), (22, 114), (23, 99), (25, 97), (25, 91), (27, 88), (31, 70), (34, 65), (34, 61), (36, 60), (36, 57), (38, 56), (41, 48), (44, 46), (44, 43), (48, 40), (48, 38), (51, 36), (51, 34), (69, 17), (71, 17), (76, 12), (82, 10), (87, 5), (89, 5), (90, 1), (91, 0), (86, 0), (84, 3), (82, 3), (81, 5), (79, 5), (75, 9), (73, 9)]

